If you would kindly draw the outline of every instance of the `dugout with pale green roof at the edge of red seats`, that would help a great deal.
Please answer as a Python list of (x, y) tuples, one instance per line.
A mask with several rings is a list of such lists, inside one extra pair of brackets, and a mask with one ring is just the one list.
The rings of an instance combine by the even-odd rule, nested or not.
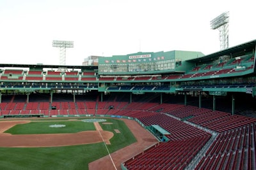
[(150, 127), (148, 127), (148, 130), (151, 131), (152, 134), (154, 134), (154, 136), (156, 136), (156, 138), (159, 139), (160, 141), (169, 141), (169, 139), (166, 136), (170, 135), (170, 132), (163, 129), (163, 127), (159, 125), (150, 125)]

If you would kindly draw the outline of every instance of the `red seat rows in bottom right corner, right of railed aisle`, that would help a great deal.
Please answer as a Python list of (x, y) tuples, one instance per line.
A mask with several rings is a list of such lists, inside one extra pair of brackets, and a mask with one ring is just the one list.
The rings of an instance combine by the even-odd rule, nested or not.
[(196, 169), (255, 169), (255, 124), (221, 132)]

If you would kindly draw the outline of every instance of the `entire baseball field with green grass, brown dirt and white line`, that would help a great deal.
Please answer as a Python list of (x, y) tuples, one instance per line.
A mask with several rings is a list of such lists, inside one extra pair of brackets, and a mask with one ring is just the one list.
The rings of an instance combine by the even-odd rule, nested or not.
[(154, 143), (133, 120), (1, 120), (0, 169), (120, 169)]

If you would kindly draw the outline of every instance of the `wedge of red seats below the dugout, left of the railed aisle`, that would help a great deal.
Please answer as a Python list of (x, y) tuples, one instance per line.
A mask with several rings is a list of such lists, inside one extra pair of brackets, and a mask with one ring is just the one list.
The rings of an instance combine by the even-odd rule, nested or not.
[(127, 169), (184, 169), (210, 135), (160, 143), (125, 162)]

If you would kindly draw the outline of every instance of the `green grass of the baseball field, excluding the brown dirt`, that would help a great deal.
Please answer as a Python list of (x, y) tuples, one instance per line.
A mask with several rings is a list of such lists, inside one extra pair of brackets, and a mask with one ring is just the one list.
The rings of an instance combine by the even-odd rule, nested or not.
[[(111, 131), (114, 133), (114, 137), (110, 140), (111, 145), (107, 145), (110, 152), (115, 152), (116, 150), (123, 148), (124, 146), (131, 145), (136, 141), (131, 131), (127, 128), (125, 123), (122, 120), (117, 119), (108, 119), (108, 122), (113, 124), (102, 124), (102, 129), (105, 131)], [(42, 124), (45, 123), (45, 124)], [(19, 129), (22, 128), (24, 131), (27, 131), (26, 134), (39, 134), (41, 129), (45, 129), (44, 125), (50, 124), (65, 124), (67, 122), (31, 122), (31, 127), (28, 127), (29, 124), (22, 124), (26, 128), (19, 127), (15, 132), (13, 130), (17, 127), (12, 127), (9, 131), (12, 131), (13, 134), (19, 134)], [(81, 131), (84, 129), (84, 125), (88, 125), (90, 129), (92, 123), (85, 122), (70, 122), (69, 124), (75, 124), (72, 126), (73, 132)], [(82, 123), (82, 124), (80, 124)], [(38, 126), (36, 126), (38, 124)], [(29, 125), (29, 126), (30, 126)], [(19, 125), (20, 126), (20, 125)], [(33, 129), (31, 129), (33, 127)], [(62, 129), (61, 128), (52, 128), (52, 129)], [(37, 129), (37, 131), (35, 130)], [(80, 130), (77, 130), (80, 129)], [(116, 133), (114, 129), (118, 129), (120, 133)], [(56, 130), (51, 130), (56, 131)], [(59, 130), (58, 130), (59, 131)], [(62, 130), (61, 130), (62, 131)], [(70, 129), (66, 132), (72, 132)], [(84, 130), (83, 130), (84, 131)], [(64, 132), (64, 131), (63, 131)], [(58, 132), (59, 133), (59, 132)], [(23, 134), (23, 133), (22, 133)], [(108, 155), (104, 143), (95, 143), (88, 145), (77, 145), (77, 146), (61, 146), (61, 147), (42, 147), (42, 148), (0, 148), (0, 169), (88, 169), (88, 164), (93, 160), (100, 159)]]

